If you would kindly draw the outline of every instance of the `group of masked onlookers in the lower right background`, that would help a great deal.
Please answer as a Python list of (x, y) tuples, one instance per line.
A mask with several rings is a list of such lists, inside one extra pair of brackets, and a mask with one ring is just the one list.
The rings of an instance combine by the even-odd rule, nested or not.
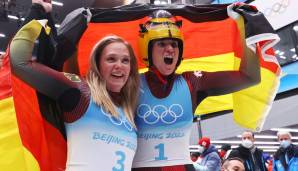
[(244, 131), (241, 144), (231, 148), (223, 144), (216, 149), (210, 138), (202, 137), (198, 149), (190, 153), (196, 171), (296, 171), (298, 170), (298, 148), (292, 143), (292, 135), (279, 131), (280, 144), (274, 155), (264, 153), (255, 145), (254, 133)]

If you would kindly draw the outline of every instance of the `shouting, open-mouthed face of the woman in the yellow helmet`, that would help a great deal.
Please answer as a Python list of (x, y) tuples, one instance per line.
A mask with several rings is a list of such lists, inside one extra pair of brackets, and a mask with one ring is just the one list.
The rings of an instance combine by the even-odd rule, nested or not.
[(170, 75), (176, 69), (179, 56), (178, 42), (162, 39), (153, 42), (152, 62), (162, 75)]

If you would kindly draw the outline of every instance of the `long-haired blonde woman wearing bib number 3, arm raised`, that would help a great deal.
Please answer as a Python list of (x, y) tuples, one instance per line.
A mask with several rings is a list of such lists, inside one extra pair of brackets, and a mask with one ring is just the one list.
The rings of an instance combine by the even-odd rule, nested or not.
[(99, 40), (86, 78), (31, 60), (46, 20), (24, 25), (10, 43), (13, 74), (54, 100), (63, 112), (67, 136), (66, 170), (130, 171), (137, 147), (134, 111), (139, 75), (130, 44), (117, 36)]

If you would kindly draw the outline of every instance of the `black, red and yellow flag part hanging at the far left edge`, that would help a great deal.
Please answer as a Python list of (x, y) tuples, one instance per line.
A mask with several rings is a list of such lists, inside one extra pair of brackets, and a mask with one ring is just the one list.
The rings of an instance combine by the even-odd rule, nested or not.
[(0, 168), (64, 170), (66, 139), (48, 99), (11, 74), (9, 50), (0, 70)]

